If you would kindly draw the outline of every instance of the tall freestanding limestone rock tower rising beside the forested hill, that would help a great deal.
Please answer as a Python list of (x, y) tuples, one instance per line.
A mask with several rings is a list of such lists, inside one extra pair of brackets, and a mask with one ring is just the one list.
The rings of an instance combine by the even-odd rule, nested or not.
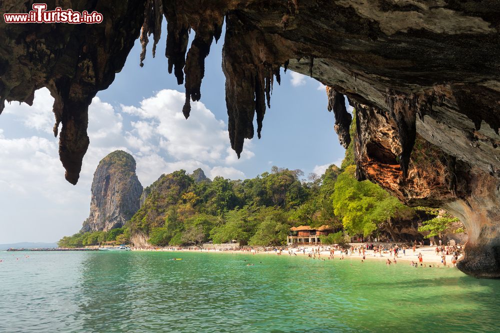
[(142, 193), (133, 157), (121, 150), (104, 157), (95, 170), (91, 192), (90, 216), (81, 231), (122, 227), (139, 209)]

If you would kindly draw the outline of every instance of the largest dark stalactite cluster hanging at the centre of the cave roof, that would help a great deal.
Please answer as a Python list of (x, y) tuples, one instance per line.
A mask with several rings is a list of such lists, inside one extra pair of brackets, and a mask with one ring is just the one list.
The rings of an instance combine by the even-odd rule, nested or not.
[[(265, 41), (260, 31), (248, 31), (237, 17), (227, 15), (226, 24), (222, 70), (226, 77), (229, 139), (239, 157), (244, 139), (253, 137), (255, 113), (257, 136), (261, 137), (266, 103), (270, 107), (274, 77), (279, 80), (280, 66), (286, 60), (274, 58), (273, 45)], [(259, 52), (252, 52), (253, 49)]]

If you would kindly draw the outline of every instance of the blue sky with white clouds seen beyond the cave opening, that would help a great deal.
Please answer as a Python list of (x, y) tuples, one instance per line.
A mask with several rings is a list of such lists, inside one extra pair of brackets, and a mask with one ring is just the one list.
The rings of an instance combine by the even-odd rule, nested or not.
[(244, 179), (273, 165), (308, 175), (340, 164), (344, 149), (333, 130), (333, 113), (326, 109), (325, 87), (307, 76), (283, 73), (282, 68), (262, 138), (246, 140), (238, 160), (227, 133), (223, 36), (206, 58), (201, 100), (191, 102), (186, 120), (181, 112), (184, 87), (168, 74), (162, 56), (165, 26), (163, 31), (155, 58), (149, 45), (144, 66), (139, 67), (136, 40), (114, 82), (92, 100), (90, 145), (75, 186), (64, 179), (48, 90), (37, 90), (32, 106), (5, 102), (0, 115), (0, 244), (55, 242), (76, 233), (89, 215), (93, 172), (99, 160), (116, 149), (135, 158), (144, 187), (179, 169), (191, 173), (202, 168), (209, 178)]

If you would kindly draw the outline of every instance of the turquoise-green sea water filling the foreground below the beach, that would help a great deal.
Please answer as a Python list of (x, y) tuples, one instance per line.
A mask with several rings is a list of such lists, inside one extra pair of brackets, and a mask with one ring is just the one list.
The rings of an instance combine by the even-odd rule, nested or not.
[(456, 269), (178, 252), (0, 260), (0, 332), (500, 330), (500, 281)]

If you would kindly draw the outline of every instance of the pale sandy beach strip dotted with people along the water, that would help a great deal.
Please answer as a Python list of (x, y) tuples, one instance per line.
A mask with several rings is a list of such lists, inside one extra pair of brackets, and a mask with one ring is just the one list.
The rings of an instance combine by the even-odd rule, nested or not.
[[(298, 251), (298, 248), (285, 248), (281, 255), (282, 256), (291, 256), (291, 257), (304, 257), (304, 258), (307, 258), (307, 255), (309, 253), (312, 253), (312, 248), (313, 247), (301, 247), (299, 248), (300, 251)], [(302, 249), (305, 249), (305, 254), (303, 253), (303, 250)], [(324, 250), (325, 248), (323, 247), (323, 250), (320, 251), (320, 256), (318, 258), (318, 256), (316, 255), (316, 258), (315, 259), (312, 259), (311, 260), (322, 260), (324, 259), (325, 261), (328, 261), (328, 260), (340, 260), (341, 258), (341, 253), (339, 250), (335, 250), (334, 251), (334, 257), (333, 259), (328, 259), (328, 256), (329, 256), (329, 251), (328, 250)], [(290, 255), (288, 253), (289, 250), (292, 250), (292, 254)], [(321, 248), (320, 248), (321, 250)], [(246, 254), (246, 255), (273, 255), (273, 256), (277, 256), (277, 252), (275, 251), (258, 251), (258, 250), (255, 250), (255, 249), (252, 249), (252, 250), (219, 250), (219, 249), (185, 249), (185, 248), (132, 248), (132, 251), (149, 251), (149, 252), (179, 252), (179, 253), (182, 253), (182, 252), (197, 252), (197, 253), (214, 253), (214, 254)], [(412, 261), (415, 262), (415, 263), (418, 263), (418, 254), (421, 253), (422, 254), (422, 259), (423, 259), (423, 262), (422, 264), (423, 265), (439, 265), (441, 266), (442, 263), (441, 263), (441, 256), (439, 255), (436, 255), (435, 254), (435, 247), (431, 247), (431, 246), (421, 246), (419, 247), (418, 249), (416, 249), (416, 251), (413, 253), (413, 250), (412, 249), (406, 249), (406, 255), (403, 255), (402, 254), (402, 250), (399, 252), (400, 255), (398, 255), (397, 259), (396, 259), (396, 262), (397, 263), (400, 263), (400, 262), (404, 262), (405, 264), (408, 264), (408, 263), (411, 263)], [(295, 255), (296, 254), (296, 255)], [(452, 264), (451, 264), (451, 258), (452, 256), (451, 255), (447, 255), (446, 256), (446, 265), (449, 266), (449, 268), (452, 268)], [(458, 260), (460, 260), (460, 258), (462, 257), (462, 255), (459, 255), (458, 256)], [(351, 254), (350, 256), (343, 256), (343, 260), (355, 260), (355, 261), (361, 261), (362, 260), (362, 255), (358, 255), (357, 253), (353, 253)], [(374, 256), (374, 252), (373, 250), (365, 250), (365, 260), (378, 260), (378, 261), (383, 261), (385, 262), (387, 259), (390, 259), (391, 262), (393, 262), (393, 256), (390, 256), (390, 254), (387, 252), (387, 253), (382, 253), (382, 257), (379, 256), (379, 254), (377, 254), (376, 256)], [(397, 265), (397, 264), (396, 264)]]

